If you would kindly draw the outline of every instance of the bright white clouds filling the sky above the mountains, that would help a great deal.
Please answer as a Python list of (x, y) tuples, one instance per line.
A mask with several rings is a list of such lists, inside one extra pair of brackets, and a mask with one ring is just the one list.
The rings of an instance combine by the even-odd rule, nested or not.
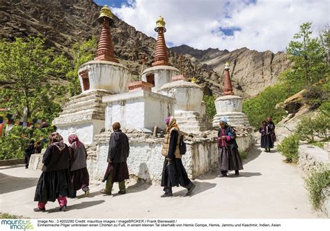
[[(131, 6), (111, 10), (146, 35), (157, 37), (155, 22), (166, 22), (166, 42), (232, 51), (246, 46), (257, 51), (284, 51), (304, 22), (315, 33), (329, 24), (327, 0), (136, 0)], [(227, 17), (226, 17), (227, 16)], [(229, 17), (228, 17), (229, 16)], [(219, 28), (239, 28), (232, 36)]]

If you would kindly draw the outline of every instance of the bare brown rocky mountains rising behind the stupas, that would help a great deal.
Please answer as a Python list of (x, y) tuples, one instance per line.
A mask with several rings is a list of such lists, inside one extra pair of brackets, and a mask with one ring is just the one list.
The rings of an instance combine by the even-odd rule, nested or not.
[[(100, 36), (101, 26), (96, 22), (100, 8), (92, 0), (0, 0), (0, 38), (13, 41), (15, 37), (42, 35), (47, 46), (70, 55), (75, 42)], [(146, 55), (150, 67), (155, 38), (136, 31), (118, 17), (114, 18), (111, 35), (116, 58), (139, 78), (141, 55)], [(183, 54), (182, 72), (188, 78), (196, 78), (205, 94), (216, 96), (221, 94), (222, 71), (227, 60), (232, 63), (234, 92), (244, 97), (276, 83), (278, 74), (290, 65), (283, 53), (260, 53), (246, 48), (232, 52), (201, 51), (182, 45), (171, 48), (169, 53), (171, 63), (178, 68), (179, 55)]]

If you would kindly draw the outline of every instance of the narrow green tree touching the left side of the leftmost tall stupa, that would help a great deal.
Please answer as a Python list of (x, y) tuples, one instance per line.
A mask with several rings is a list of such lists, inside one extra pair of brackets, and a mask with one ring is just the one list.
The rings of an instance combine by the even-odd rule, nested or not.
[(96, 48), (96, 38), (92, 37), (91, 40), (81, 44), (74, 44), (72, 49), (70, 49), (70, 54), (72, 55), (72, 69), (66, 74), (66, 77), (70, 80), (68, 89), (70, 96), (75, 96), (81, 93), (78, 69), (84, 63), (93, 60)]

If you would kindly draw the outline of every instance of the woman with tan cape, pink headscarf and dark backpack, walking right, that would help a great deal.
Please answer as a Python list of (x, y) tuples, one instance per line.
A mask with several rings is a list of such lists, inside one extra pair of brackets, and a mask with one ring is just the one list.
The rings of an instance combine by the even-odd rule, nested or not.
[(162, 172), (161, 186), (164, 187), (162, 197), (173, 196), (172, 187), (182, 186), (188, 189), (186, 196), (190, 196), (196, 187), (189, 180), (187, 171), (182, 164), (179, 150), (180, 130), (174, 117), (166, 119), (167, 129), (162, 148), (164, 155), (164, 166)]

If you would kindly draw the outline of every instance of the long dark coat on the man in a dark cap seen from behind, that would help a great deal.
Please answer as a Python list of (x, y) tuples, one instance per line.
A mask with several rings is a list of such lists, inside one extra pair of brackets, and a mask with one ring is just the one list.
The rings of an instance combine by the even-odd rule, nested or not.
[(127, 157), (129, 156), (128, 137), (121, 130), (114, 131), (110, 136), (107, 171), (104, 174), (102, 182), (105, 182), (111, 173), (112, 182), (121, 182), (129, 178)]

